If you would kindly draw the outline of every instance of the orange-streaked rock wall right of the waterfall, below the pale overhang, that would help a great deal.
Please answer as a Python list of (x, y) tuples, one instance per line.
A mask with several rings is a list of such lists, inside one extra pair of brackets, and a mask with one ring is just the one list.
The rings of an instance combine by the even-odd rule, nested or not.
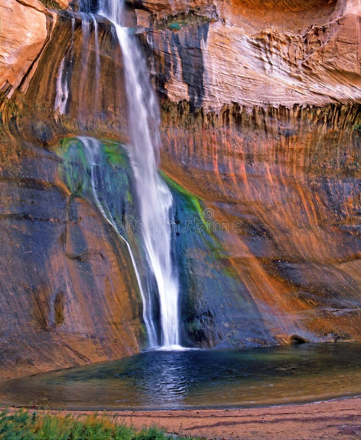
[[(163, 167), (207, 207), (222, 265), (269, 331), (260, 341), (360, 338), (360, 105), (188, 110), (164, 109)], [(193, 249), (187, 258), (202, 280), (207, 254)], [(211, 316), (217, 344), (255, 342), (229, 288), (222, 292), (214, 279), (198, 287), (187, 289), (186, 320)], [(239, 337), (242, 320), (250, 331)]]

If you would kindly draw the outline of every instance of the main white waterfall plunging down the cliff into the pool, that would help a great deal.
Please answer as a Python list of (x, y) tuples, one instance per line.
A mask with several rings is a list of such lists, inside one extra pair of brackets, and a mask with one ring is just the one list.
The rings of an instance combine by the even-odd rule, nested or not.
[[(171, 259), (170, 231), (170, 209), (173, 200), (168, 186), (158, 174), (160, 145), (158, 104), (140, 48), (128, 34), (127, 28), (122, 26), (123, 0), (99, 0), (98, 6), (98, 14), (114, 24), (123, 53), (130, 138), (127, 153), (134, 174), (140, 220), (144, 225), (141, 232), (145, 253), (156, 281), (160, 307), (161, 345), (178, 346), (178, 280)], [(83, 10), (90, 12), (86, 8), (88, 8), (87, 3)], [(149, 286), (151, 283), (148, 283), (148, 289)], [(142, 296), (145, 302), (147, 298), (150, 300), (152, 297), (151, 292)], [(152, 304), (144, 304), (144, 307), (151, 310)], [(148, 331), (151, 332), (151, 329), (148, 328)], [(151, 344), (150, 339), (149, 337)]]

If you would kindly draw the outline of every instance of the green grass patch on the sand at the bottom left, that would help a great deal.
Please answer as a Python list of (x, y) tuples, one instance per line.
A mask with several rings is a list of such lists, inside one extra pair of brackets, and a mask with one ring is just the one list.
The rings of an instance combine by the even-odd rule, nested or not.
[[(1, 440), (166, 440), (175, 437), (159, 428), (135, 430), (124, 423), (98, 416), (75, 418), (67, 414), (52, 415), (24, 411), (0, 413)], [(176, 436), (178, 440), (181, 437)], [(183, 438), (184, 439), (184, 438)], [(188, 438), (189, 439), (189, 438)]]

